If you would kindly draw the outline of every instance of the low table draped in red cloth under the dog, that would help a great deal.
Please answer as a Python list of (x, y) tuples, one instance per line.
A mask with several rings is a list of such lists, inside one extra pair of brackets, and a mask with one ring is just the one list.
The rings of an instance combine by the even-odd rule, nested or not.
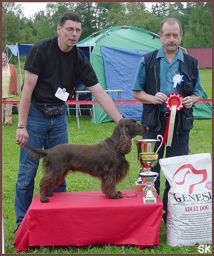
[[(101, 191), (61, 192), (41, 203), (35, 195), (16, 232), (14, 245), (30, 246), (159, 244), (163, 204), (143, 204), (142, 195), (110, 199)], [(135, 197), (133, 197), (135, 196)]]

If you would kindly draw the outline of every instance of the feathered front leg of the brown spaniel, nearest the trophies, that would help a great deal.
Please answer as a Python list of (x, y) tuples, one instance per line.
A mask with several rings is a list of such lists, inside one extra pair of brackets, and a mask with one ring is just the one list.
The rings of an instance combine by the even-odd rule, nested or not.
[(123, 198), (121, 191), (116, 191), (116, 178), (109, 173), (101, 178), (101, 190), (109, 198)]

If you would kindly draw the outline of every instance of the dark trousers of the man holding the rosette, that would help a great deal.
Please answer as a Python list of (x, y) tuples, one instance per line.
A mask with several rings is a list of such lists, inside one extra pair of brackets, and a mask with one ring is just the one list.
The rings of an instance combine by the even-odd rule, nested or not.
[[(164, 117), (163, 113), (160, 113), (160, 123), (161, 123), (161, 128), (159, 131), (148, 131), (142, 139), (157, 139), (157, 135), (164, 135), (164, 132), (166, 130), (166, 125), (168, 118)], [(160, 147), (158, 151), (158, 160), (162, 159), (164, 156), (164, 149), (166, 147), (166, 158), (167, 157), (174, 157), (174, 156), (184, 156), (184, 155), (189, 155), (189, 133), (190, 131), (180, 131), (178, 134), (176, 133), (176, 127), (178, 124), (178, 116), (176, 114), (175, 118), (175, 126), (174, 126), (174, 131), (173, 131), (173, 137), (172, 137), (172, 144), (171, 147), (167, 146), (166, 143), (162, 147)], [(167, 142), (167, 140), (166, 140)], [(155, 143), (154, 151), (157, 151), (158, 147), (160, 145), (160, 142)], [(157, 189), (157, 193), (159, 195), (160, 192), (160, 164), (154, 166), (151, 171), (155, 171), (156, 173), (159, 174), (157, 180), (155, 181), (155, 188)], [(165, 182), (165, 188), (163, 192), (163, 210), (167, 212), (167, 202), (168, 202), (168, 191), (170, 190), (170, 184), (168, 183), (168, 180), (166, 179)]]

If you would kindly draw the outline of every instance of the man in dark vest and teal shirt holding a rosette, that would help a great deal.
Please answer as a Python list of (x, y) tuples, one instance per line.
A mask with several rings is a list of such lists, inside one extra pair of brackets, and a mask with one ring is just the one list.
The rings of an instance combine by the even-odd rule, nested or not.
[[(143, 139), (157, 139), (160, 134), (166, 137), (166, 128), (172, 106), (169, 98), (178, 95), (182, 108), (176, 109), (175, 125), (171, 133), (170, 146), (165, 142), (158, 151), (158, 158), (189, 154), (189, 133), (193, 128), (193, 106), (203, 94), (200, 83), (198, 60), (182, 52), (182, 26), (179, 20), (169, 17), (160, 25), (160, 40), (163, 46), (159, 50), (145, 54), (140, 60), (132, 95), (143, 103), (141, 122), (149, 127)], [(169, 137), (169, 134), (168, 134)], [(155, 143), (154, 151), (161, 142)], [(160, 174), (159, 163), (151, 169)], [(155, 182), (159, 194), (160, 176)], [(170, 184), (166, 180), (163, 193), (163, 220), (166, 223), (167, 201)]]

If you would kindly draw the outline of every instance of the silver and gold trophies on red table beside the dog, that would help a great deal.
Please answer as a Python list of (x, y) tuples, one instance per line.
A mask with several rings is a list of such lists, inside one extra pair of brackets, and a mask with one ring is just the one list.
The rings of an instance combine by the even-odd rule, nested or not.
[[(154, 152), (154, 145), (157, 141), (160, 142), (160, 145), (157, 151)], [(154, 182), (158, 177), (158, 173), (151, 171), (151, 168), (157, 165), (158, 150), (161, 147), (162, 141), (162, 135), (158, 135), (157, 139), (135, 140), (137, 146), (137, 158), (140, 162), (139, 179), (135, 182), (136, 193), (143, 194), (144, 203), (157, 202), (157, 191), (154, 187)]]

